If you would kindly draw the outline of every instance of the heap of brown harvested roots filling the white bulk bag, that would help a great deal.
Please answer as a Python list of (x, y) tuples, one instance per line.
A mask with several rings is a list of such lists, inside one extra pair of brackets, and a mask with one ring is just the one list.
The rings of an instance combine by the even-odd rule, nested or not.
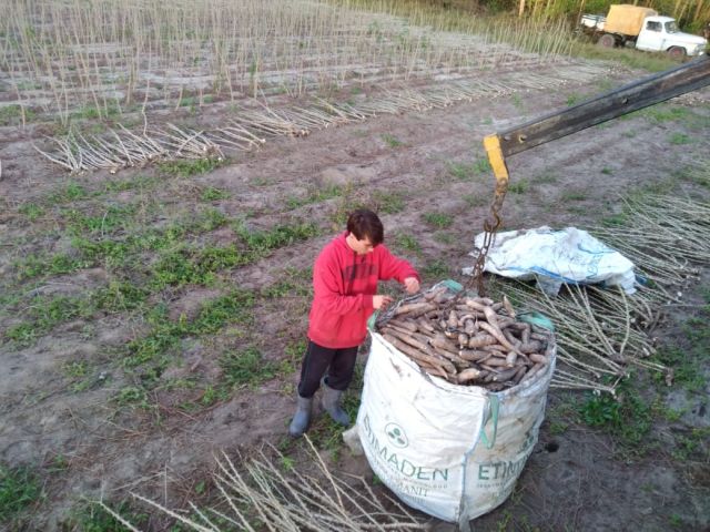
[(446, 287), (400, 304), (377, 330), (427, 374), (489, 391), (541, 376), (554, 352), (551, 334), (517, 320), (506, 297), (494, 303)]

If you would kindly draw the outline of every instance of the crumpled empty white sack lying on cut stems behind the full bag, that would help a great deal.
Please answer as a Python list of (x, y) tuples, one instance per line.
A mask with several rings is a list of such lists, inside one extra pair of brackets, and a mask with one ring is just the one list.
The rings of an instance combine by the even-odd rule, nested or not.
[[(470, 255), (478, 256), (483, 242), (484, 233), (476, 236), (476, 250)], [(470, 274), (471, 269), (465, 268), (465, 273)], [(575, 227), (498, 233), (484, 269), (504, 277), (537, 279), (540, 288), (552, 295), (564, 283), (618, 285), (627, 294), (636, 291), (633, 263)]]

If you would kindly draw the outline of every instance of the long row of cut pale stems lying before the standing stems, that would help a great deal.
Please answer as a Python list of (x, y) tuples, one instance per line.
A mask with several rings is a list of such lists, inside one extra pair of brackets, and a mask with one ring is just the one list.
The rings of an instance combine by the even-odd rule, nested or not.
[(223, 151), (260, 149), (267, 139), (305, 136), (315, 130), (362, 122), (383, 114), (429, 111), (516, 92), (587, 83), (602, 72), (589, 65), (564, 65), (547, 69), (546, 75), (507, 73), (442, 83), (423, 90), (386, 91), (352, 99), (352, 103), (315, 99), (310, 108), (271, 109), (258, 100), (252, 100), (233, 113), (227, 124), (213, 125), (209, 131), (184, 131), (170, 123), (164, 130), (155, 130), (145, 123), (143, 133), (138, 135), (123, 126), (119, 132), (111, 131), (110, 135), (103, 136), (70, 133), (65, 139), (53, 140), (53, 152), (37, 150), (70, 172), (103, 168), (115, 173), (120, 168), (162, 160), (222, 157)]

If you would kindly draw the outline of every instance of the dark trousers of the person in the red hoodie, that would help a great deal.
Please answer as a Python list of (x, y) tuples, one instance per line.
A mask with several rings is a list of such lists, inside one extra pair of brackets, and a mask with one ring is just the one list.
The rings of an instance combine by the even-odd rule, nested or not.
[(301, 365), (298, 395), (304, 398), (313, 397), (326, 371), (325, 383), (328, 388), (344, 391), (353, 380), (357, 347), (331, 349), (308, 340), (306, 355)]

